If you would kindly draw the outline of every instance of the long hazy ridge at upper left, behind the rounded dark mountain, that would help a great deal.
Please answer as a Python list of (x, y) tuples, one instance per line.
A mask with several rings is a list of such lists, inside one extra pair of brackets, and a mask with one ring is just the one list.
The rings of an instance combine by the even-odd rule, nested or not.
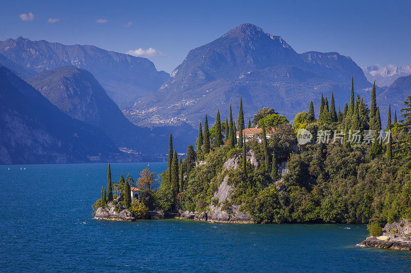
[(0, 53), (35, 72), (69, 65), (84, 68), (99, 80), (120, 107), (127, 107), (137, 98), (156, 91), (169, 77), (168, 73), (157, 71), (146, 58), (95, 46), (66, 46), (18, 37), (0, 41)]

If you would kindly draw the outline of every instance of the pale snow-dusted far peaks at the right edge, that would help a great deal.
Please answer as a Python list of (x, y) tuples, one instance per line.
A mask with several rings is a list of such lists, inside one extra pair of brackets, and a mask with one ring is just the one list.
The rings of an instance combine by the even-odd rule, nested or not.
[(411, 74), (411, 67), (402, 66), (396, 67), (393, 65), (381, 67), (381, 66), (368, 66), (363, 67), (364, 75), (369, 82), (376, 81), (378, 86), (389, 86), (396, 79), (402, 76), (408, 76)]

